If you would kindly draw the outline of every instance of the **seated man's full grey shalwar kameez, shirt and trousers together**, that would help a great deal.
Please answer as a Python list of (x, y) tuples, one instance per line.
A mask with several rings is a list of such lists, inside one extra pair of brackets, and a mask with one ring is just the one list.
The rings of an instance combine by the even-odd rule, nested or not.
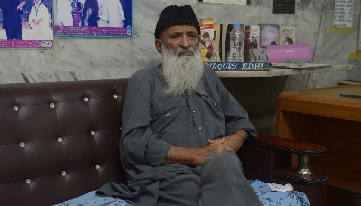
[(257, 133), (207, 65), (203, 91), (175, 101), (164, 98), (158, 67), (135, 72), (126, 89), (119, 149), (128, 185), (110, 182), (96, 194), (137, 206), (260, 206), (234, 153), (213, 154), (201, 166), (164, 164), (170, 145), (199, 148), (239, 129), (250, 139)]

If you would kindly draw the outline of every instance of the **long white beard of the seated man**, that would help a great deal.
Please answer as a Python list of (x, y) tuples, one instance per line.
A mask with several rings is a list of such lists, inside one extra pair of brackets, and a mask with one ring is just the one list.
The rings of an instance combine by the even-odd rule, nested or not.
[[(200, 45), (193, 50), (178, 49), (174, 54), (173, 49), (168, 49), (161, 44), (162, 49), (162, 74), (168, 88), (165, 90), (165, 97), (180, 99), (184, 95), (192, 95), (202, 90), (202, 76), (204, 64), (200, 57)], [(193, 55), (179, 55), (181, 51), (191, 50)]]

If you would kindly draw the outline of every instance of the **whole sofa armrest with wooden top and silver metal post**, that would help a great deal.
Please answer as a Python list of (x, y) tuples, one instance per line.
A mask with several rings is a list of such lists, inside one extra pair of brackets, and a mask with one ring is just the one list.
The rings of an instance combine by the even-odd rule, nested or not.
[[(247, 179), (278, 184), (291, 183), (296, 191), (306, 193), (310, 205), (324, 206), (328, 178), (315, 174), (309, 157), (326, 152), (323, 145), (258, 134), (237, 152)], [(291, 167), (291, 154), (298, 154), (299, 165)]]

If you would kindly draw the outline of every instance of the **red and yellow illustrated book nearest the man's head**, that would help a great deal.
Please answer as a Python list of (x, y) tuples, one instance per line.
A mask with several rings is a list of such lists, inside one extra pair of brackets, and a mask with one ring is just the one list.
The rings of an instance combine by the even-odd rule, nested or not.
[(217, 62), (213, 19), (197, 19), (201, 28), (198, 39), (201, 44), (201, 59), (203, 62)]

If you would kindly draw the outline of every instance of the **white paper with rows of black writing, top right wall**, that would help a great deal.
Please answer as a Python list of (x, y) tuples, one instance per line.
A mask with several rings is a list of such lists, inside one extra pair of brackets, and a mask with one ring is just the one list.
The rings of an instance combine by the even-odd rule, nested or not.
[(354, 0), (335, 0), (334, 27), (352, 27)]

